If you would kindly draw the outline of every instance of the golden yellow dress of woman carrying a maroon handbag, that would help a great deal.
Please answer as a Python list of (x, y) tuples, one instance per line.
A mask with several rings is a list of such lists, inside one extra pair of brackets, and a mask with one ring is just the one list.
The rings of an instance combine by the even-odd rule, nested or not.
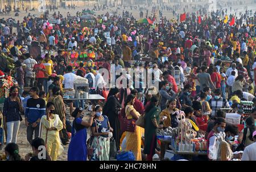
[[(127, 107), (129, 106), (129, 108)], [(136, 111), (132, 105), (126, 106), (126, 117), (127, 119), (131, 119), (130, 112), (132, 110)], [(137, 112), (138, 113), (138, 112)], [(136, 126), (136, 130), (134, 132), (126, 131), (126, 151), (131, 151), (134, 154), (135, 161), (141, 161), (141, 127)]]

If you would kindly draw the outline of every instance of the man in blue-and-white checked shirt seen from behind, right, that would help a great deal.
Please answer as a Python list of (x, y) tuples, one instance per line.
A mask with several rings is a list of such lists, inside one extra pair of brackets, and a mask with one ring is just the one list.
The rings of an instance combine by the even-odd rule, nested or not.
[(229, 102), (221, 97), (221, 90), (216, 89), (214, 91), (214, 97), (210, 99), (209, 101), (210, 109), (212, 109), (212, 115), (211, 117), (215, 117), (217, 110), (221, 108), (230, 108)]

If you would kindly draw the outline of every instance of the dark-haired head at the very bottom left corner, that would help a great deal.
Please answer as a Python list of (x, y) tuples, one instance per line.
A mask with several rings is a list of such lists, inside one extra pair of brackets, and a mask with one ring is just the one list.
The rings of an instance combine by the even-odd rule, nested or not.
[(9, 143), (5, 147), (7, 161), (23, 161), (19, 155), (19, 147), (16, 143)]

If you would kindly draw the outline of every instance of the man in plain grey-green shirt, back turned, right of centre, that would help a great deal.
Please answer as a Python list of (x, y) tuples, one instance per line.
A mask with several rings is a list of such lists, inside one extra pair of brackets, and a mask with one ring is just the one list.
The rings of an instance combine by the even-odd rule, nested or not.
[(212, 85), (212, 87), (215, 89), (212, 79), (210, 79), (210, 74), (205, 72), (206, 69), (207, 67), (202, 66), (202, 72), (197, 74), (197, 79), (199, 80), (201, 91), (203, 91), (204, 87), (210, 87), (210, 85)]

